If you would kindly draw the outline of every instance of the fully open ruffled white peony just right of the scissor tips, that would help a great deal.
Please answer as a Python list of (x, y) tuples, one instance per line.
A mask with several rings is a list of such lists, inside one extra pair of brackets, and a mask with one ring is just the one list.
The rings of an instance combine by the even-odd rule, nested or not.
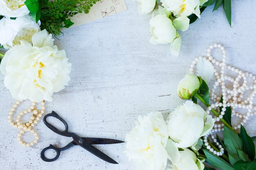
[(168, 140), (166, 121), (161, 112), (139, 116), (135, 128), (126, 135), (126, 156), (136, 164), (137, 170), (164, 170)]

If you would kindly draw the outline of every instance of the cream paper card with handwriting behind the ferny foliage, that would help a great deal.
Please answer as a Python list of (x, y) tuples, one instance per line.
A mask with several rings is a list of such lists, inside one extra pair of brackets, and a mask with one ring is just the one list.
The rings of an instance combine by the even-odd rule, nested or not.
[(70, 28), (126, 10), (127, 7), (124, 0), (101, 0), (91, 7), (88, 14), (78, 13), (71, 17), (70, 19), (74, 24)]

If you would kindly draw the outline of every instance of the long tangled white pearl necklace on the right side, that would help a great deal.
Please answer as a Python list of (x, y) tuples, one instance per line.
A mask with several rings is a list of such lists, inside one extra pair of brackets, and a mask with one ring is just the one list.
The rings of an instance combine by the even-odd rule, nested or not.
[[(222, 50), (222, 61), (219, 62), (213, 58), (211, 55), (212, 49), (219, 48)], [(213, 101), (213, 104), (209, 106), (206, 110), (207, 114), (210, 114), (210, 110), (213, 108), (219, 113), (219, 107), (222, 107), (222, 111), (220, 112), (219, 117), (214, 117), (216, 122), (219, 122), (220, 119), (223, 118), (223, 115), (225, 115), (225, 111), (227, 107), (231, 107), (232, 110), (232, 117), (236, 116), (239, 119), (241, 119), (240, 124), (233, 126), (233, 128), (239, 129), (241, 128), (241, 125), (243, 125), (251, 115), (256, 115), (256, 106), (254, 106), (254, 97), (256, 94), (256, 77), (252, 73), (245, 73), (243, 71), (240, 71), (238, 68), (229, 66), (226, 64), (226, 51), (225, 47), (221, 44), (213, 44), (207, 49), (207, 57), (197, 57), (195, 60), (193, 60), (191, 66), (190, 66), (190, 73), (194, 73), (194, 67), (199, 60), (208, 60), (212, 64), (215, 64), (216, 66), (220, 67), (220, 72), (217, 72), (216, 69), (214, 69), (214, 75), (216, 76), (217, 81), (213, 84), (213, 87), (209, 91), (209, 95), (211, 100)], [(231, 72), (235, 72), (237, 75), (236, 78), (229, 77), (225, 75), (225, 70), (229, 70)], [(247, 78), (252, 79), (253, 83), (252, 85), (248, 85)], [(229, 82), (230, 84), (233, 84), (233, 88), (228, 89), (225, 82)], [(239, 82), (243, 82), (241, 85)], [(220, 97), (217, 97), (215, 93), (215, 89), (217, 87), (221, 88), (222, 93), (222, 103), (220, 102)], [(250, 95), (246, 98), (244, 96), (245, 91), (251, 91)], [(243, 100), (244, 99), (244, 100)], [(243, 108), (247, 110), (246, 114), (241, 114), (236, 112), (236, 108)], [(216, 132), (220, 132), (224, 130), (224, 124), (214, 124), (213, 129), (209, 134), (204, 136), (203, 142), (204, 145), (207, 147), (207, 149), (210, 152), (213, 152), (213, 154), (217, 156), (221, 156), (224, 154), (224, 148), (223, 146), (217, 141), (216, 139)], [(208, 137), (210, 136), (210, 139), (215, 143), (216, 147), (210, 146), (208, 142)]]

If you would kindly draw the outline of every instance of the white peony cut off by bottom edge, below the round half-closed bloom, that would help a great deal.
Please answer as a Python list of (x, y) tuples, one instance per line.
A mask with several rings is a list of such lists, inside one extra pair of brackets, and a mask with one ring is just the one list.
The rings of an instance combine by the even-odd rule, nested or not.
[(204, 159), (197, 158), (194, 152), (184, 148), (180, 152), (180, 160), (168, 170), (204, 170)]

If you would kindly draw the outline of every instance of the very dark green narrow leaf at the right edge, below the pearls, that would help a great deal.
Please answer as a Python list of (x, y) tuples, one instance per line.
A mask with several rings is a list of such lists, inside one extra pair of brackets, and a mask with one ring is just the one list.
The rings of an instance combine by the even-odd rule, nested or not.
[(240, 129), (240, 137), (245, 146), (245, 153), (253, 161), (255, 159), (255, 145), (253, 143), (252, 138), (249, 137), (249, 135), (247, 135), (247, 132), (246, 132), (244, 126), (242, 126), (242, 125), (241, 125), (241, 129)]

